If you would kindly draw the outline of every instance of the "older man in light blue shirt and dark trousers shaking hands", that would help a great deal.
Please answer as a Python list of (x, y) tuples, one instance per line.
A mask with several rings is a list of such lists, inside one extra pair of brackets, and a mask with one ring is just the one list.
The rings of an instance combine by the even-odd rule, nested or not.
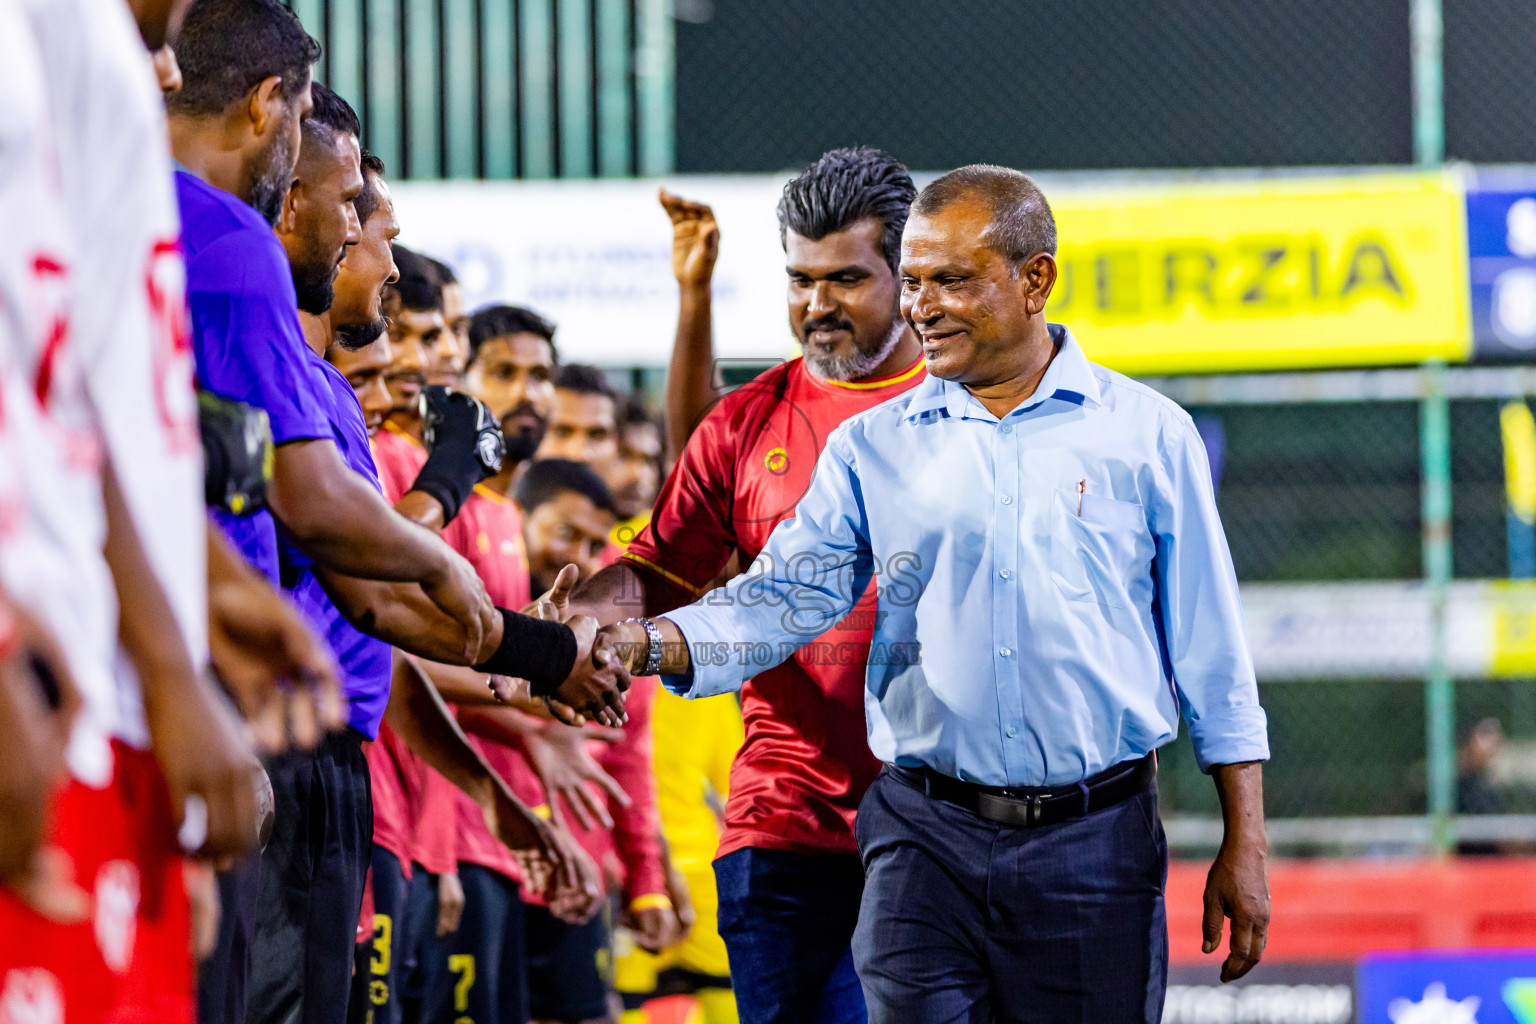
[(859, 812), (854, 943), (877, 1022), (1160, 1019), (1154, 751), (1180, 717), (1227, 823), (1206, 949), (1230, 917), (1223, 978), (1263, 952), (1269, 743), (1204, 447), (1046, 324), (1054, 252), (1018, 172), (925, 189), (902, 273), (928, 381), (833, 433), (745, 576), (611, 633), (674, 692), (731, 692), (877, 582), (865, 706), (889, 768)]

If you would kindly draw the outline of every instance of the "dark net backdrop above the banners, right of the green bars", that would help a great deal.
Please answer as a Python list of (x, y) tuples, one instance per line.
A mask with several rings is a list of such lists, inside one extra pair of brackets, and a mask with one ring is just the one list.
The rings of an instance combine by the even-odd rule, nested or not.
[[(699, 15), (677, 23), (684, 172), (780, 170), (851, 143), (923, 170), (1412, 160), (1407, 0), (694, 0), (682, 11)], [(1524, 74), (1536, 75), (1530, 61)]]

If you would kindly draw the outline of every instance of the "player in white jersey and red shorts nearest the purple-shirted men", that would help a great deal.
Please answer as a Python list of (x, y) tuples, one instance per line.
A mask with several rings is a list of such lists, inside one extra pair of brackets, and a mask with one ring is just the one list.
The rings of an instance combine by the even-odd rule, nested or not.
[[(163, 31), (170, 5), (146, 8)], [(38, 390), (49, 422), (69, 431), (71, 493), (38, 511), (71, 543), (92, 545), (97, 563), (104, 547), (111, 568), (89, 577), (106, 593), (72, 608), (91, 617), (92, 668), (106, 674), (86, 686), (94, 749), (58, 797), (52, 841), (94, 898), (112, 979), (91, 992), (108, 1019), (190, 1021), (183, 800), (200, 795), (210, 847), (235, 851), (253, 840), (255, 795), (249, 743), (201, 677), (206, 519), (164, 114), (147, 40), (120, 0), (32, 0), (26, 11), (74, 253), (68, 330), (38, 348), (40, 370), (71, 361), (57, 396)]]

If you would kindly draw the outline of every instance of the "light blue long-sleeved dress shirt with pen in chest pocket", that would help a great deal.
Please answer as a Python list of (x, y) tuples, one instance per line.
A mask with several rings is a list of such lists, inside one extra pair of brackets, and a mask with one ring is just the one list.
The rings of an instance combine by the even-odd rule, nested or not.
[(1064, 327), (1051, 335), (1044, 379), (1001, 419), (929, 376), (833, 431), (748, 573), (667, 614), (694, 657), (668, 689), (740, 688), (874, 576), (865, 711), (880, 760), (1072, 783), (1167, 743), (1180, 715), (1203, 769), (1266, 760), (1193, 422), (1089, 362)]

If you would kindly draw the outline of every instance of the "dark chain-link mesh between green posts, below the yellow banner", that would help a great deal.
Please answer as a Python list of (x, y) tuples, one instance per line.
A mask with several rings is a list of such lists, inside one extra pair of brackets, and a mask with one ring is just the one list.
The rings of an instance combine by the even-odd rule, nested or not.
[[(1330, 376), (1370, 393), (1381, 379), (1412, 373)], [(1304, 378), (1298, 375), (1290, 384)], [(1404, 378), (1396, 379), (1401, 384)], [(1385, 388), (1385, 401), (1361, 395), (1356, 401), (1264, 402), (1250, 395), (1232, 404), (1190, 401), (1223, 391), (1220, 379), (1154, 384), (1186, 401), (1206, 439), (1223, 524), (1244, 583), (1295, 586), (1304, 602), (1309, 585), (1422, 576), (1421, 407), (1412, 398), (1412, 384)], [(1263, 387), (1258, 378), (1250, 384)], [(1521, 390), (1507, 384), (1511, 391)], [(1278, 395), (1287, 388), (1273, 390)], [(1458, 579), (1510, 574), (1499, 421), (1507, 401), (1479, 395), (1450, 402)], [(1385, 669), (1379, 679), (1359, 672), (1347, 679), (1279, 679), (1261, 671), (1260, 692), (1273, 755), (1266, 766), (1267, 812), (1281, 823), (1309, 824), (1281, 824), (1279, 834), (1290, 837), (1289, 852), (1413, 846), (1413, 837), (1427, 837), (1425, 829), (1399, 829), (1395, 838), (1390, 829), (1361, 827), (1350, 838), (1342, 824), (1427, 812), (1422, 679)], [(1513, 843), (1531, 849), (1525, 837), (1536, 835), (1536, 826), (1514, 815), (1536, 814), (1536, 685), (1527, 679), (1459, 679), (1455, 731), (1458, 811), (1496, 815), (1468, 818), (1478, 827), (1462, 846), (1508, 849)], [(1213, 820), (1215, 789), (1200, 774), (1187, 740), (1163, 754), (1164, 814), (1172, 820)], [(1174, 834), (1193, 846), (1218, 837), (1209, 829)]]

